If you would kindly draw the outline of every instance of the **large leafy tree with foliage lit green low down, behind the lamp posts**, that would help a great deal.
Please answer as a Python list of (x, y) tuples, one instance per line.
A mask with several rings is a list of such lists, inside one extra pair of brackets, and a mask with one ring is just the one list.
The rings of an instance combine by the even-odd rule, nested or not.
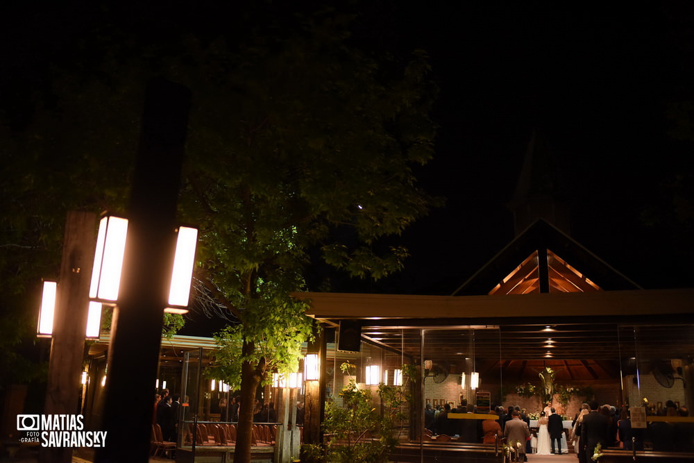
[[(432, 203), (412, 171), (432, 156), (426, 53), (364, 50), (349, 15), (267, 8), (235, 25), (259, 11), (263, 22), (221, 34), (99, 23), (46, 68), (31, 111), (4, 113), (1, 289), (17, 298), (3, 298), (3, 313), (31, 305), (31, 282), (58, 268), (67, 210), (123, 210), (152, 76), (193, 94), (179, 212), (201, 231), (198, 306), (242, 322), (220, 333), (237, 355), (214, 375), (251, 398), (270, 371), (296, 368), (312, 326), (290, 294), (316, 258), (359, 278), (403, 266), (407, 250), (382, 243)], [(244, 408), (239, 461), (250, 448)]]

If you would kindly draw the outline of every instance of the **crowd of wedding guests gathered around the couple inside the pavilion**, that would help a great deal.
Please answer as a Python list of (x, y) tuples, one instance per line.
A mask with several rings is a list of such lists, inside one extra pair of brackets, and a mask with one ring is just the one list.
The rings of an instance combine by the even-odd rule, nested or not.
[[(451, 419), (450, 413), (476, 413), (477, 407), (461, 403), (455, 409), (450, 405), (425, 407), (425, 428), (433, 435), (458, 436), (460, 442), (493, 444), (497, 437), (505, 441), (525, 442), (520, 453), (531, 453), (530, 418), (527, 410), (518, 406), (492, 407), (491, 412), (497, 419)], [(650, 411), (650, 415), (654, 412)], [(677, 407), (668, 401), (661, 413), (663, 416), (689, 416), (686, 407)], [(648, 421), (648, 417), (647, 417)], [(548, 433), (550, 452), (561, 453), (561, 435), (564, 424), (555, 409), (545, 407), (539, 419), (541, 431)], [(542, 427), (546, 426), (546, 430)], [(568, 431), (569, 441), (580, 462), (592, 460), (595, 446), (602, 448), (624, 448), (625, 450), (643, 450), (644, 443), (653, 451), (694, 452), (694, 423), (680, 421), (648, 421), (647, 428), (632, 428), (628, 407), (599, 405), (597, 401), (584, 403), (575, 415)], [(632, 440), (633, 438), (633, 440)], [(543, 437), (544, 439), (544, 437)], [(534, 439), (533, 439), (534, 441)], [(555, 446), (556, 443), (556, 446)], [(541, 443), (538, 442), (537, 448)], [(543, 444), (544, 446), (544, 444)]]

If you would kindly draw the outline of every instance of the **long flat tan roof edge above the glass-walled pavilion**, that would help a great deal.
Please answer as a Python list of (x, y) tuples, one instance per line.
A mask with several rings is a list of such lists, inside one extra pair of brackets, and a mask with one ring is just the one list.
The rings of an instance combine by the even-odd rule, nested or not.
[[(306, 314), (316, 319), (530, 319), (599, 317), (627, 323), (671, 315), (679, 323), (694, 321), (694, 289), (637, 289), (586, 293), (491, 296), (411, 296), (302, 292)], [(448, 323), (448, 320), (447, 320)], [(495, 322), (496, 323), (496, 322)], [(369, 324), (369, 323), (366, 323)]]

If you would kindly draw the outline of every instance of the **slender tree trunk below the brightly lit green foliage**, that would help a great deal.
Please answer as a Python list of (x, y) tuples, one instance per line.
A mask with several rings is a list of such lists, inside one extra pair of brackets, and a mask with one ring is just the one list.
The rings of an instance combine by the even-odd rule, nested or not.
[[(243, 353), (255, 348), (252, 343), (244, 341)], [(239, 423), (236, 432), (236, 449), (234, 451), (234, 463), (251, 463), (251, 446), (253, 442), (253, 407), (255, 405), (255, 390), (260, 384), (260, 375), (255, 366), (249, 362), (243, 362), (241, 366), (241, 407), (239, 409)]]

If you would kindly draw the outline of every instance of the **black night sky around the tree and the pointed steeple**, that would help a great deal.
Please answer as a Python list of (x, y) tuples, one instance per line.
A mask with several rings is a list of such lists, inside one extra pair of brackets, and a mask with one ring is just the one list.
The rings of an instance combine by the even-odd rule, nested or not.
[[(686, 2), (404, 3), (345, 8), (357, 13), (360, 46), (430, 54), (439, 135), (418, 175), (447, 202), (403, 235), (412, 254), (403, 273), (336, 289), (450, 294), (513, 239), (507, 203), (535, 128), (555, 163), (555, 194), (573, 214), (570, 235), (643, 287), (691, 287), (694, 22)], [(46, 62), (67, 56), (71, 40), (107, 16), (157, 35), (213, 34), (234, 14), (215, 2), (162, 4), (10, 2), (4, 97), (20, 101), (22, 85), (39, 82)]]

